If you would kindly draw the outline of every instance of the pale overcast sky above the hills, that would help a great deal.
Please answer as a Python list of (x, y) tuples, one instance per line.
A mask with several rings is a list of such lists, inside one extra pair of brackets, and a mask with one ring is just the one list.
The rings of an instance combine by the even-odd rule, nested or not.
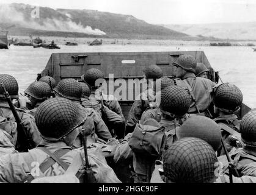
[(0, 0), (51, 8), (91, 9), (133, 15), (151, 24), (256, 21), (254, 0)]

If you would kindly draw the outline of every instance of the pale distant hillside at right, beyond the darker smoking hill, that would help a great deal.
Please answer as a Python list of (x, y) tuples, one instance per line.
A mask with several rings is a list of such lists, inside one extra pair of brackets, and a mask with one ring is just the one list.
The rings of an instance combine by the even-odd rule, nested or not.
[(216, 37), (224, 40), (256, 40), (256, 22), (186, 25), (170, 24), (163, 26), (188, 35), (202, 35), (205, 37)]

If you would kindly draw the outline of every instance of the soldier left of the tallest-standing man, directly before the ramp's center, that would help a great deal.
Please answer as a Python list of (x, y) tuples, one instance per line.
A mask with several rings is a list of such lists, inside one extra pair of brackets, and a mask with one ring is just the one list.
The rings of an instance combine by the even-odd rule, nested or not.
[(158, 106), (155, 102), (156, 89), (153, 89), (154, 87), (152, 87), (155, 83), (149, 83), (149, 79), (160, 79), (161, 77), (163, 77), (163, 71), (159, 66), (151, 65), (144, 69), (144, 79), (147, 80), (148, 88), (136, 97), (133, 105), (131, 106), (126, 121), (126, 135), (133, 132), (137, 122), (141, 119), (142, 113), (145, 110), (154, 109)]

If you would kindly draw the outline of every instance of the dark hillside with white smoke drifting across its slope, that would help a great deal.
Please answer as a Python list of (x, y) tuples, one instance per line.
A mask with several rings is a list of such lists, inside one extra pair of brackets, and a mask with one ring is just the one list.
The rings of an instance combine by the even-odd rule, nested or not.
[(0, 5), (0, 28), (15, 24), (15, 27), (9, 29), (10, 35), (197, 39), (163, 26), (148, 24), (131, 15), (40, 7), (39, 18), (33, 18), (33, 9), (31, 5), (25, 4)]

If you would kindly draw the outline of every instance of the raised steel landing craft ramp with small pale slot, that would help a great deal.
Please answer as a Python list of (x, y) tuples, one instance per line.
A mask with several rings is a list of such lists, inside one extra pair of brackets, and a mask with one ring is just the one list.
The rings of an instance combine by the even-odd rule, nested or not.
[[(125, 118), (133, 104), (133, 100), (128, 97), (131, 86), (129, 79), (142, 79), (143, 69), (150, 65), (158, 65), (163, 69), (164, 76), (172, 77), (174, 66), (172, 63), (181, 55), (189, 54), (195, 57), (198, 63), (204, 63), (210, 72), (209, 79), (218, 83), (218, 72), (211, 67), (203, 51), (178, 51), (178, 52), (84, 52), (84, 53), (56, 53), (52, 54), (40, 76), (51, 76), (59, 82), (62, 79), (73, 78), (81, 81), (81, 76), (87, 69), (100, 69), (109, 83), (109, 76), (114, 81), (125, 80), (126, 98), (119, 99)], [(121, 85), (121, 84), (120, 84)], [(140, 85), (141, 87), (141, 85)], [(114, 87), (114, 91), (119, 85)], [(135, 92), (133, 93), (135, 97)], [(251, 108), (243, 104), (240, 117)]]

